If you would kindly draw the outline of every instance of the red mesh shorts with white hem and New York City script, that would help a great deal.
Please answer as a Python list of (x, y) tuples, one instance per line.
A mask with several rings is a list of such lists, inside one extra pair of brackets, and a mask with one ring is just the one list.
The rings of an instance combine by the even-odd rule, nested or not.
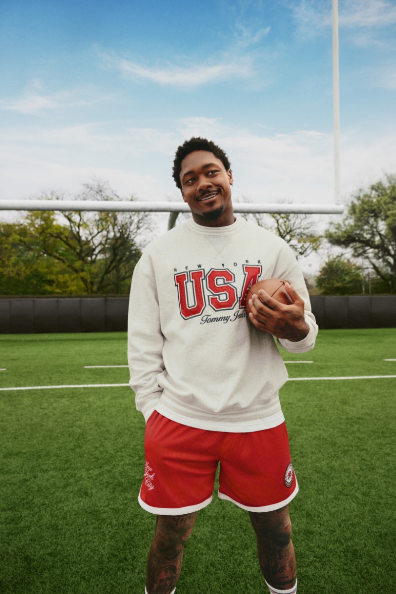
[(218, 462), (218, 497), (244, 510), (276, 510), (299, 490), (284, 423), (227, 433), (180, 425), (154, 410), (144, 446), (139, 503), (154, 514), (178, 516), (210, 504)]

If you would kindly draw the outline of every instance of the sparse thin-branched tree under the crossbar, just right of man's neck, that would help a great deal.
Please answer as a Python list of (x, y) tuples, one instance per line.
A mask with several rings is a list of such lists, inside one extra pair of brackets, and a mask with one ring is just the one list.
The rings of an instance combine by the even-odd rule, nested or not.
[[(243, 199), (243, 202), (247, 202)], [(260, 227), (273, 231), (293, 249), (296, 258), (318, 251), (322, 238), (315, 233), (315, 222), (305, 213), (242, 213)]]

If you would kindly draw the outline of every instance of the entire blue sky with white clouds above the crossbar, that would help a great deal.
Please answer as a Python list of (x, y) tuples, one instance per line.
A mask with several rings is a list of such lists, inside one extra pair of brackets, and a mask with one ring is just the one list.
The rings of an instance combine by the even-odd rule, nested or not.
[[(341, 195), (396, 173), (396, 0), (339, 0)], [(0, 200), (179, 199), (210, 137), (235, 199), (334, 201), (331, 0), (0, 0)]]

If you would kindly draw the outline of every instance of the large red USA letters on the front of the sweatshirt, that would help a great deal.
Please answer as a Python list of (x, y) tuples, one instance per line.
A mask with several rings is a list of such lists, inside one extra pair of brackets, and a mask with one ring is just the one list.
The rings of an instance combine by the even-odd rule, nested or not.
[(228, 268), (205, 270), (186, 270), (174, 275), (178, 289), (180, 315), (185, 320), (201, 315), (206, 307), (204, 280), (207, 289), (208, 304), (214, 311), (234, 309), (236, 305), (245, 307), (246, 293), (261, 274), (262, 266), (243, 264), (243, 284), (239, 293), (235, 286), (235, 274)]

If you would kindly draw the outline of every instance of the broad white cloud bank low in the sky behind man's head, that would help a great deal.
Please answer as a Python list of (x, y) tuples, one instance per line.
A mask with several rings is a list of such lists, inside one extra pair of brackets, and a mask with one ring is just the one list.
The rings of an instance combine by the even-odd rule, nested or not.
[[(365, 132), (368, 134), (368, 132)], [(274, 203), (334, 203), (332, 134), (297, 130), (265, 135), (215, 118), (184, 118), (169, 129), (124, 128), (103, 134), (96, 127), (34, 129), (0, 136), (0, 199), (23, 198), (46, 189), (78, 191), (93, 176), (109, 181), (120, 194), (141, 200), (179, 199), (172, 180), (173, 154), (192, 135), (214, 140), (226, 150), (235, 178), (234, 197)], [(362, 136), (345, 132), (341, 139), (341, 193), (396, 170), (396, 136)]]

